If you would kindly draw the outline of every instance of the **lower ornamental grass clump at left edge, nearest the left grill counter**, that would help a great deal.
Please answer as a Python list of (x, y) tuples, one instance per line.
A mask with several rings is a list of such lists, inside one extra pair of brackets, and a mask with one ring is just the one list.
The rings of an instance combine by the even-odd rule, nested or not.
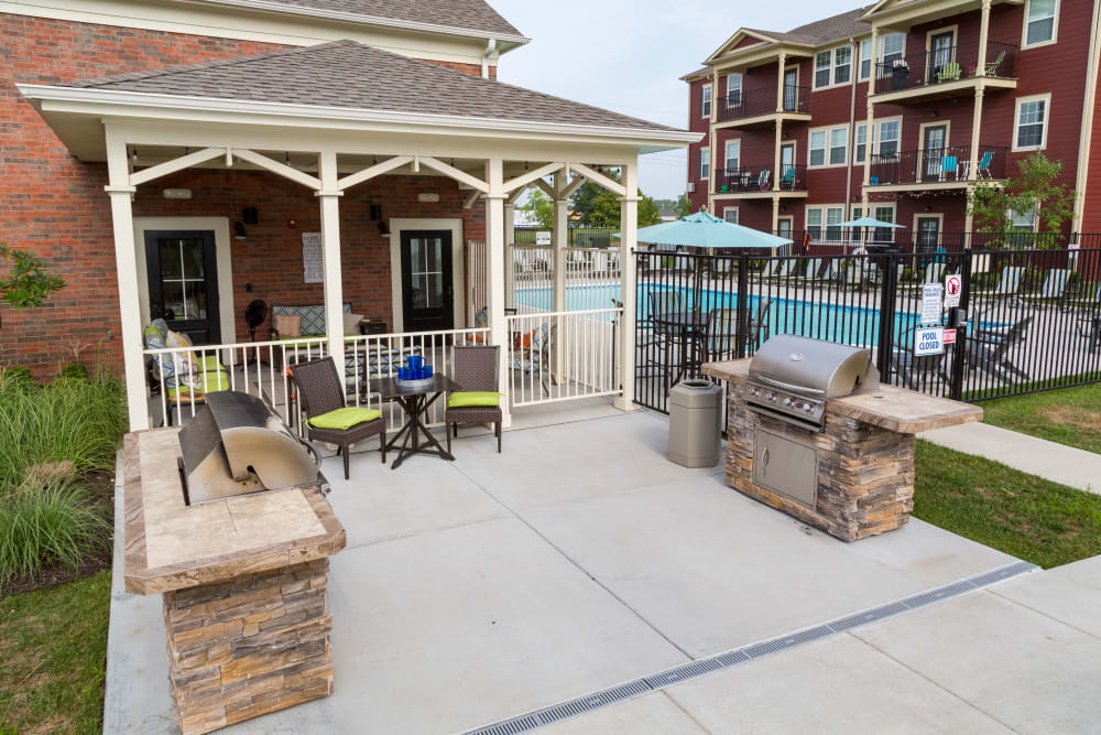
[(110, 537), (103, 506), (83, 485), (55, 479), (0, 498), (0, 586), (47, 563), (77, 568)]

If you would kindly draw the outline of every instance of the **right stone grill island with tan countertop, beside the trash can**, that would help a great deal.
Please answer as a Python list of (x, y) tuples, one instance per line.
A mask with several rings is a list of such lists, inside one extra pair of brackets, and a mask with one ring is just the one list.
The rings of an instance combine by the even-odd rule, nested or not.
[[(704, 374), (728, 385), (727, 485), (843, 541), (900, 528), (914, 509), (915, 434), (980, 421), (982, 409), (881, 386), (826, 402), (820, 432), (749, 409), (742, 386), (750, 360), (710, 363)], [(759, 483), (757, 434), (813, 446), (817, 483), (802, 497)], [(767, 454), (764, 455), (767, 462)]]

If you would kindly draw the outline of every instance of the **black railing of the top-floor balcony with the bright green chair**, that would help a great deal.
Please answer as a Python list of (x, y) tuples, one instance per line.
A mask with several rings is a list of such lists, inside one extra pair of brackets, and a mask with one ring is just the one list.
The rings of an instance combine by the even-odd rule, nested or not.
[[(991, 41), (982, 60), (986, 76), (1012, 77), (1017, 47)], [(979, 74), (979, 44), (968, 43), (938, 48), (875, 65), (875, 94), (928, 87)]]

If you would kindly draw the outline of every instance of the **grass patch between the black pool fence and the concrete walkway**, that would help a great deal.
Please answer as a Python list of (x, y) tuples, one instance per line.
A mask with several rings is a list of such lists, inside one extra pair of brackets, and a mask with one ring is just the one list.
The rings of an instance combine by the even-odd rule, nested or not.
[(983, 421), (1101, 454), (1101, 383), (983, 401)]

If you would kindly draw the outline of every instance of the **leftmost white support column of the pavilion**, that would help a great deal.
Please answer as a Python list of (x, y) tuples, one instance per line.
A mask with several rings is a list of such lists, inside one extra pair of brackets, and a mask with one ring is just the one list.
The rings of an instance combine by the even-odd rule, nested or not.
[(142, 342), (141, 304), (138, 301), (138, 252), (130, 197), (127, 143), (107, 130), (107, 193), (111, 197), (111, 224), (115, 229), (115, 268), (119, 279), (119, 313), (122, 321), (122, 360), (126, 367), (127, 407), (130, 431), (149, 429), (149, 399), (145, 393), (145, 360)]

